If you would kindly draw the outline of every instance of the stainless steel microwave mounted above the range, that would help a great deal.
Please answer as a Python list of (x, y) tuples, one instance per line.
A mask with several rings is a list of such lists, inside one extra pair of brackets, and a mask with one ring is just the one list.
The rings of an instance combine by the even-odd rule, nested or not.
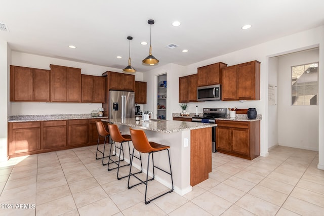
[(197, 101), (221, 100), (221, 85), (208, 85), (197, 88)]

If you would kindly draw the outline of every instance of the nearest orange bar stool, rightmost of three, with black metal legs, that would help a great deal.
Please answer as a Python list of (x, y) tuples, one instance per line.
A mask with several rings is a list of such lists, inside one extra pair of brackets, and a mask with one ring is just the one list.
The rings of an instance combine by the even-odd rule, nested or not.
[[(132, 163), (133, 163), (133, 157), (131, 159), (131, 168), (130, 168), (130, 175), (128, 177), (128, 189), (131, 189), (134, 186), (140, 185), (140, 184), (144, 184), (145, 187), (145, 197), (144, 197), (144, 202), (145, 204), (150, 203), (151, 201), (153, 201), (154, 199), (157, 199), (163, 195), (166, 195), (167, 193), (171, 193), (173, 191), (173, 178), (172, 178), (172, 170), (171, 170), (171, 161), (170, 161), (170, 152), (169, 152), (169, 148), (170, 146), (165, 146), (165, 145), (161, 145), (158, 143), (154, 143), (154, 142), (149, 142), (147, 140), (146, 134), (144, 131), (142, 130), (135, 130), (130, 128), (130, 132), (131, 132), (131, 137), (132, 137), (132, 142), (134, 145), (134, 149), (136, 149), (137, 151), (139, 151), (140, 153), (147, 153), (148, 157), (147, 157), (147, 170), (146, 170), (146, 181), (142, 181), (141, 179), (139, 179), (137, 176), (135, 176), (134, 174), (132, 174)], [(134, 155), (134, 149), (133, 149), (133, 155)], [(167, 150), (168, 151), (168, 156), (169, 156), (169, 165), (170, 165), (170, 172), (163, 170), (157, 166), (154, 165), (154, 158), (153, 158), (153, 153), (159, 152), (159, 151), (163, 151), (163, 150)], [(152, 155), (152, 164), (153, 164), (153, 177), (151, 179), (148, 179), (148, 168), (149, 168), (149, 162), (150, 162), (150, 155)], [(148, 181), (151, 181), (154, 179), (154, 168), (157, 168), (161, 171), (166, 172), (167, 174), (169, 174), (171, 176), (171, 183), (172, 183), (172, 188), (170, 191), (165, 192), (164, 194), (161, 194), (157, 197), (154, 197), (153, 199), (150, 200), (146, 200), (146, 194), (147, 194), (147, 183)], [(138, 179), (140, 181), (140, 183), (130, 186), (130, 177), (134, 176), (136, 179)]]

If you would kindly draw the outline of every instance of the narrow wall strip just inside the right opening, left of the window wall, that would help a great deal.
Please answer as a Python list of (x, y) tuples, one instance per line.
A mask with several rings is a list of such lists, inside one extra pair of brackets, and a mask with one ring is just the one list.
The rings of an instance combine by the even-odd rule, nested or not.
[[(278, 87), (278, 57), (269, 58), (269, 84)], [(276, 91), (276, 99), (278, 91)], [(277, 103), (277, 101), (276, 101)], [(278, 105), (268, 105), (268, 149), (278, 145)]]

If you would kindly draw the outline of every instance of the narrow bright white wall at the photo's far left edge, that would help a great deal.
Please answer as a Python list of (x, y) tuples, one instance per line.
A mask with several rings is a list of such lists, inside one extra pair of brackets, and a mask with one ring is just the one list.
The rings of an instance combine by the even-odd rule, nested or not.
[(5, 161), (7, 156), (7, 113), (8, 113), (8, 63), (10, 58), (7, 57), (10, 53), (7, 42), (0, 40), (0, 161)]

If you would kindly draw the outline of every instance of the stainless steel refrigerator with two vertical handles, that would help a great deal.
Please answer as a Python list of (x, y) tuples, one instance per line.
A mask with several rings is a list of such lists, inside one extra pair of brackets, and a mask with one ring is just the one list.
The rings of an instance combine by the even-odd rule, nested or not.
[(109, 118), (135, 117), (134, 92), (109, 91)]

